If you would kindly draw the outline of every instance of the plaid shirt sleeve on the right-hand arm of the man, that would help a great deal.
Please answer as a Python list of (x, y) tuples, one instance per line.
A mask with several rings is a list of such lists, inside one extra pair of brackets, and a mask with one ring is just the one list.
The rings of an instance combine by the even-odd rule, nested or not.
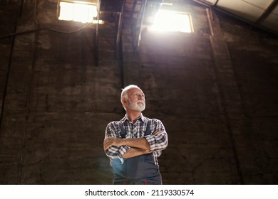
[[(155, 135), (156, 131), (162, 131), (160, 134)], [(152, 134), (145, 136), (150, 144), (150, 151), (161, 151), (168, 146), (168, 134), (165, 131), (163, 123), (159, 119), (153, 119)]]

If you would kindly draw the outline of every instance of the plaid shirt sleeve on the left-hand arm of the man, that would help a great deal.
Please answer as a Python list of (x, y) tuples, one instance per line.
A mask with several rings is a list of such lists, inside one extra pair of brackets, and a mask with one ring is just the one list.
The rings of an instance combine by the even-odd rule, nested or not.
[[(115, 122), (110, 122), (105, 129), (105, 138), (115, 137), (119, 138), (120, 131), (118, 130), (118, 125)], [(110, 146), (105, 150), (106, 156), (109, 158), (122, 158), (126, 151), (130, 149), (130, 146)]]

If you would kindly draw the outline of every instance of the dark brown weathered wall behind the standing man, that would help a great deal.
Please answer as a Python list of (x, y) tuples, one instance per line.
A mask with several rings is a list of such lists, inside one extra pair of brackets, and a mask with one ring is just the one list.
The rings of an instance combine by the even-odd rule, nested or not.
[(0, 36), (1, 184), (110, 184), (104, 130), (129, 84), (168, 131), (163, 183), (278, 183), (277, 36), (187, 4), (195, 32), (144, 29), (137, 55), (124, 21), (122, 62), (114, 25), (100, 26), (97, 65), (95, 26), (23, 2), (0, 3), (1, 35), (37, 29)]

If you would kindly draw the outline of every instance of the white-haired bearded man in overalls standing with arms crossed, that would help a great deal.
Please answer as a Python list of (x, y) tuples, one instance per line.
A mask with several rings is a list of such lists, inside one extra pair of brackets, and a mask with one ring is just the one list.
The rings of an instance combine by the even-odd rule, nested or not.
[(143, 116), (145, 95), (140, 87), (125, 87), (120, 101), (125, 117), (107, 125), (103, 141), (113, 167), (113, 184), (162, 184), (158, 157), (168, 146), (163, 123)]

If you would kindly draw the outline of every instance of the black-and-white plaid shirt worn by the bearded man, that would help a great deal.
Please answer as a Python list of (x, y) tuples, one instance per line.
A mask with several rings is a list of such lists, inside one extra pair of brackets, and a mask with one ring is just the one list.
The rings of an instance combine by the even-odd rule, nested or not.
[[(145, 136), (145, 131), (147, 128), (148, 120), (152, 120), (150, 124), (151, 134)], [(123, 125), (123, 128), (126, 130), (125, 138), (140, 138), (145, 137), (148, 143), (150, 144), (150, 151), (153, 152), (153, 157), (155, 159), (155, 164), (158, 165), (158, 157), (162, 154), (162, 150), (166, 149), (168, 146), (168, 135), (165, 131), (165, 128), (162, 122), (159, 119), (149, 119), (148, 117), (143, 117), (143, 114), (137, 119), (135, 124), (129, 121), (128, 116), (125, 114), (125, 117), (119, 122), (110, 122), (105, 130), (105, 138), (107, 137), (116, 137), (120, 138), (120, 125)], [(153, 135), (155, 131), (163, 131), (163, 133), (158, 135)], [(110, 158), (120, 158), (120, 161), (123, 163), (122, 156), (126, 151), (130, 149), (130, 146), (110, 146), (105, 150), (105, 154)]]

